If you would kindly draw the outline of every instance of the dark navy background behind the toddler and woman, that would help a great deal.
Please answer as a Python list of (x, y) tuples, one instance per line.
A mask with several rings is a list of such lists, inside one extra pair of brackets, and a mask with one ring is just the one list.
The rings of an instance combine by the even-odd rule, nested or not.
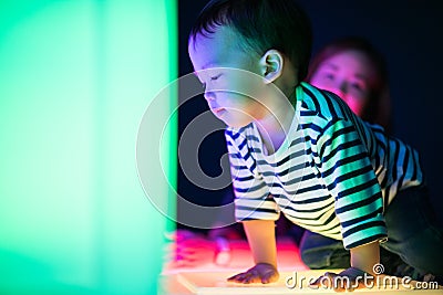
[[(178, 1), (179, 76), (193, 71), (187, 55), (189, 28), (206, 0)], [(369, 39), (384, 54), (390, 77), (393, 135), (415, 147), (431, 188), (431, 198), (443, 221), (440, 179), (442, 151), (443, 9), (439, 0), (350, 1), (299, 0), (312, 22), (313, 52), (346, 35)], [(208, 110), (203, 97), (179, 108), (179, 134), (189, 122)], [(226, 152), (223, 131), (205, 138), (198, 150), (208, 176), (222, 173), (219, 159)], [(190, 183), (178, 169), (178, 193), (195, 203), (215, 206), (229, 191), (206, 191)], [(179, 208), (178, 208), (179, 215)]]

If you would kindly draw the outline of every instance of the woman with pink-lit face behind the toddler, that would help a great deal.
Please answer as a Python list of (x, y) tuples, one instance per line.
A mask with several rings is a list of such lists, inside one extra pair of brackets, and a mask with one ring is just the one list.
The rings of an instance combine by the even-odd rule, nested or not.
[(344, 38), (323, 46), (310, 64), (307, 82), (340, 96), (364, 120), (390, 128), (385, 62), (367, 40)]

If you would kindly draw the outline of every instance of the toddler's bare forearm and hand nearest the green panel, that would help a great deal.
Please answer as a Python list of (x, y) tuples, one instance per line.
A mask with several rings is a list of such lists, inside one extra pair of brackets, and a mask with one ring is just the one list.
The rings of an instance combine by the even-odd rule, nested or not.
[(236, 283), (271, 283), (279, 277), (277, 271), (277, 246), (275, 222), (250, 220), (243, 222), (256, 265), (228, 278)]

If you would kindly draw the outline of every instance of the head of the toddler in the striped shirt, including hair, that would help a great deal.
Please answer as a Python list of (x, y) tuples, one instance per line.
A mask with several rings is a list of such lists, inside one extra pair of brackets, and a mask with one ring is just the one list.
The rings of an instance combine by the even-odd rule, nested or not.
[(274, 116), (306, 76), (310, 23), (292, 0), (213, 0), (190, 31), (188, 50), (210, 110), (243, 127)]

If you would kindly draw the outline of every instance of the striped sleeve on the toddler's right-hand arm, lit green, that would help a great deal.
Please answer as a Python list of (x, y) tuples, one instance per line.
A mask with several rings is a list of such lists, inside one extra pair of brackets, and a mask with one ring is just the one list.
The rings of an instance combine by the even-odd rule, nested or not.
[(344, 247), (385, 239), (381, 188), (352, 123), (329, 122), (317, 140), (317, 152), (324, 186), (336, 199)]

